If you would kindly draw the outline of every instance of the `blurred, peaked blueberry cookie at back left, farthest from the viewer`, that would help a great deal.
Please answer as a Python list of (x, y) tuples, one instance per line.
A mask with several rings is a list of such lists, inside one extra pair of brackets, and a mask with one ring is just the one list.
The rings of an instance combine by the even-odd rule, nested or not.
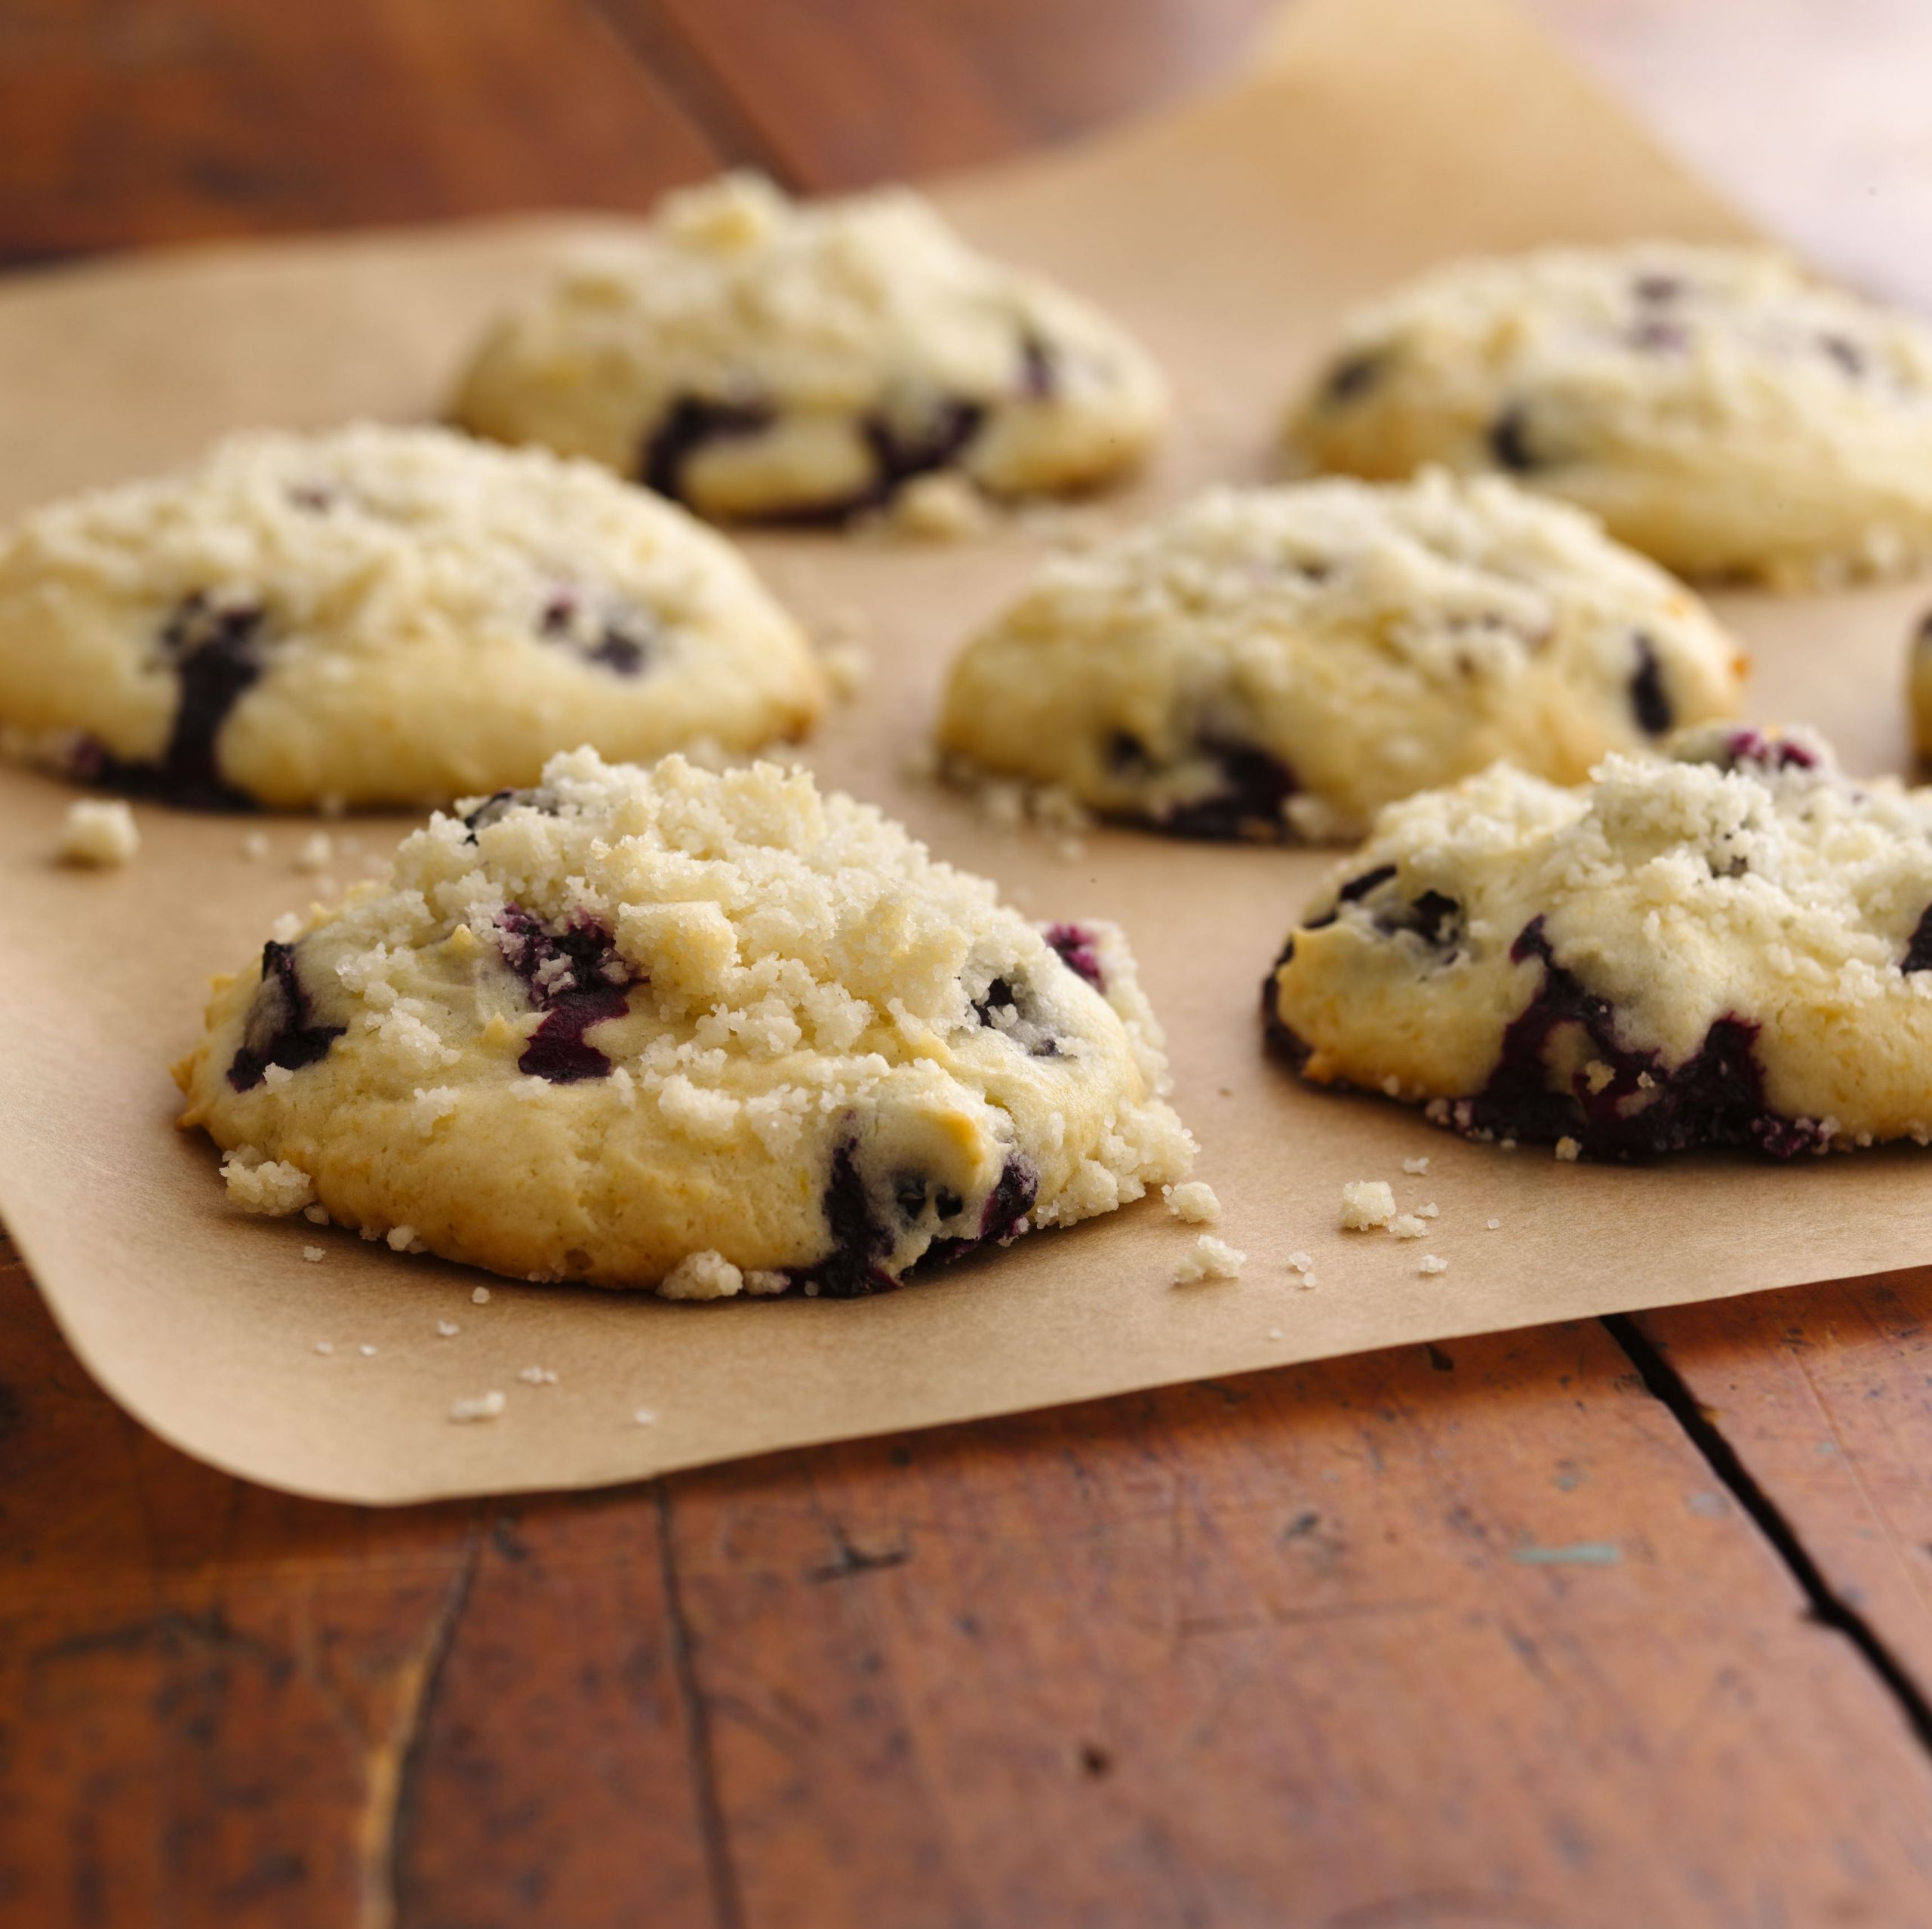
[(976, 255), (916, 193), (800, 205), (726, 174), (504, 319), (454, 412), (705, 516), (835, 520), (923, 475), (1101, 481), (1155, 439), (1167, 389), (1111, 321)]

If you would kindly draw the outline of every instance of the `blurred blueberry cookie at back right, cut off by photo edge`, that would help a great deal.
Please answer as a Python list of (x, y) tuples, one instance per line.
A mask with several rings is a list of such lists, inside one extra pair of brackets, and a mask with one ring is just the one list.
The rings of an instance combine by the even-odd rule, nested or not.
[(1932, 329), (1768, 247), (1548, 249), (1345, 323), (1289, 443), (1325, 470), (1507, 470), (1696, 576), (1932, 553)]

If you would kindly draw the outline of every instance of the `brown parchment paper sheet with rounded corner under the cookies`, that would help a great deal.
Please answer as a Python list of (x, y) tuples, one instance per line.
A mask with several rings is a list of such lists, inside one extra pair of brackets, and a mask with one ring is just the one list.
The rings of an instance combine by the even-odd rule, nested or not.
[[(1265, 474), (1281, 404), (1337, 309), (1397, 276), (1470, 249), (1739, 232), (1492, 0), (1306, 0), (1233, 91), (941, 199), (985, 245), (1105, 302), (1175, 373), (1179, 431), (1148, 481), (1107, 504), (1122, 520), (1211, 477)], [(0, 514), (240, 425), (427, 416), (483, 317), (593, 226), (228, 247), (17, 280), (0, 292)], [(1126, 924), (1171, 1030), (1200, 1175), (1225, 1206), (1217, 1231), (1250, 1254), (1246, 1274), (1171, 1285), (1194, 1231), (1150, 1200), (862, 1303), (667, 1307), (491, 1280), (477, 1307), (481, 1274), (242, 1218), (211, 1148), (170, 1129), (166, 1065), (195, 1036), (207, 974), (313, 895), (292, 866), (313, 825), (270, 821), (270, 858), (249, 862), (247, 821), (143, 808), (139, 862), (75, 876), (48, 860), (71, 792), (6, 769), (0, 1210), (75, 1351), (168, 1440), (357, 1502), (587, 1486), (1932, 1256), (1924, 1156), (1559, 1166), (1302, 1090), (1262, 1059), (1256, 999), (1329, 856), (1103, 833), (1068, 860), (900, 775), (951, 651), (1032, 566), (1037, 533), (752, 547), (808, 619), (869, 617), (875, 675), (811, 746), (821, 775), (1034, 914)], [(1903, 640), (1928, 599), (1721, 599), (1756, 651), (1752, 711), (1822, 725), (1853, 769), (1901, 767)], [(332, 829), (371, 852), (398, 827)], [(346, 881), (357, 864), (334, 870)], [(1430, 1171), (1406, 1177), (1418, 1154)], [(1403, 1206), (1435, 1200), (1428, 1241), (1343, 1235), (1339, 1191), (1360, 1177), (1395, 1181)], [(301, 1258), (311, 1241), (321, 1264)], [(1285, 1266), (1294, 1249), (1314, 1256), (1312, 1289)], [(1422, 1278), (1424, 1251), (1447, 1272)], [(439, 1338), (439, 1320), (460, 1334)], [(524, 1384), (526, 1367), (556, 1384)], [(489, 1388), (508, 1396), (502, 1419), (450, 1425), (454, 1399)]]

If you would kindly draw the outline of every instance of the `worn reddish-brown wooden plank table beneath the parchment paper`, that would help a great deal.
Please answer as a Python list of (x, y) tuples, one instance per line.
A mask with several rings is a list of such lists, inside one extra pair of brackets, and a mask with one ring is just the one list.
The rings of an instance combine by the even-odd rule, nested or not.
[[(12, 0), (0, 257), (912, 174), (1264, 12)], [(1926, 274), (1903, 0), (1544, 12)], [(1932, 1921), (1932, 1274), (402, 1513), (193, 1465), (0, 1301), (10, 1929)]]

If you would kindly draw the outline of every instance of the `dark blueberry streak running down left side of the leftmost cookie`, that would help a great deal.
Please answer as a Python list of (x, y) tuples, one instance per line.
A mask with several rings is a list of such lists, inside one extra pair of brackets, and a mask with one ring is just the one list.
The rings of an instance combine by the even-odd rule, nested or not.
[(220, 773), (216, 738), (269, 667), (263, 628), (265, 613), (255, 603), (214, 603), (199, 590), (178, 603), (160, 632), (162, 655), (180, 680), (166, 750), (145, 762), (89, 740), (75, 756), (75, 775), (191, 810), (251, 810), (255, 800)]

